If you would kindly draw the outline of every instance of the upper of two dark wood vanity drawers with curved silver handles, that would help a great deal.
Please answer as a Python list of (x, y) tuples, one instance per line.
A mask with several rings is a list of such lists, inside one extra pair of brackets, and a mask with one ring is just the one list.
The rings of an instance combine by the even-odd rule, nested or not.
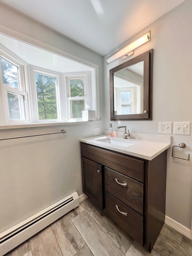
[(105, 167), (105, 190), (143, 215), (142, 183)]

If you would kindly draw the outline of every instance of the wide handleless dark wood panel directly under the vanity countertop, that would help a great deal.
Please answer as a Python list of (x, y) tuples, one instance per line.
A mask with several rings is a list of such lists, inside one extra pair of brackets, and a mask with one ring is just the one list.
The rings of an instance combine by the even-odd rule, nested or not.
[(81, 143), (81, 155), (144, 182), (144, 161)]

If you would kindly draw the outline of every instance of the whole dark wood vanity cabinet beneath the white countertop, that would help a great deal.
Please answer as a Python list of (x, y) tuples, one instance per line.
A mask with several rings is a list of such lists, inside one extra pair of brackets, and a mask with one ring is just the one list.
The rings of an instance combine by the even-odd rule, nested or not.
[(81, 142), (83, 192), (145, 249), (165, 221), (167, 150), (149, 161)]

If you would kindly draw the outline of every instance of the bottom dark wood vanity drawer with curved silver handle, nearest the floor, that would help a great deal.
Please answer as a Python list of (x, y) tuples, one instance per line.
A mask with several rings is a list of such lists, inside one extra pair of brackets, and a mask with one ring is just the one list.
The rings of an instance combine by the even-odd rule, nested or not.
[[(107, 192), (105, 192), (105, 199), (106, 213), (133, 239), (143, 245), (143, 217)], [(127, 215), (120, 213), (117, 207)]]

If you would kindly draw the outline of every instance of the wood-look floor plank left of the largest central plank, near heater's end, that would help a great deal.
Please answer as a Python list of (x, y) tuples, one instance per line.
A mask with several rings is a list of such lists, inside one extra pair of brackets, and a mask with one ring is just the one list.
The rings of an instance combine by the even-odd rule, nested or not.
[(73, 256), (85, 245), (85, 241), (68, 215), (64, 215), (62, 218), (52, 223), (51, 228), (63, 256)]

